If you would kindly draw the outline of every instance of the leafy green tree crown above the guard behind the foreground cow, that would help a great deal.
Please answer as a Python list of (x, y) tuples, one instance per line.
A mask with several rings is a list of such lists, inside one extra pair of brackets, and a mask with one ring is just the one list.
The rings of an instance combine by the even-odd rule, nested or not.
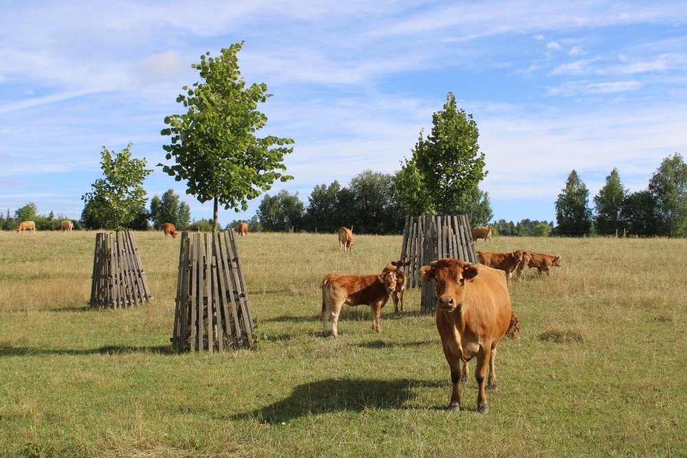
[(404, 159), (397, 175), (401, 204), (414, 216), (462, 209), (487, 174), (473, 116), (458, 108), (450, 92), (443, 108), (432, 115), (426, 139), (420, 131), (412, 158)]

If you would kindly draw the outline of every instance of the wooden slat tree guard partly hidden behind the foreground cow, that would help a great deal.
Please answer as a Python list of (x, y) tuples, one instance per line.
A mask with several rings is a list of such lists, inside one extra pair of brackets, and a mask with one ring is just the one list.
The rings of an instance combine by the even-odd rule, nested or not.
[(468, 216), (407, 216), (401, 259), (410, 261), (405, 271), (407, 288), (422, 288), (420, 310), (425, 313), (436, 309), (436, 288), (434, 282), (427, 282), (420, 275), (420, 267), (442, 257), (477, 262)]

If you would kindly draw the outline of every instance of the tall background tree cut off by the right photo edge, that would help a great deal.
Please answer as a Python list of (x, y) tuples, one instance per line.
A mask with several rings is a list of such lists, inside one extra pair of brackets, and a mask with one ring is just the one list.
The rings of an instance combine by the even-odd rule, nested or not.
[(661, 235), (687, 236), (687, 165), (677, 152), (661, 162), (649, 180), (661, 218)]

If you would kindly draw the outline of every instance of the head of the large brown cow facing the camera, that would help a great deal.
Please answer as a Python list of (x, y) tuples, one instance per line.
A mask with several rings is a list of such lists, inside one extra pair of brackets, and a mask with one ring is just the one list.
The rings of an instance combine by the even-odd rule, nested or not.
[(465, 297), (465, 282), (477, 276), (477, 268), (469, 262), (444, 257), (420, 268), (427, 281), (436, 282), (438, 310), (451, 312), (460, 306)]

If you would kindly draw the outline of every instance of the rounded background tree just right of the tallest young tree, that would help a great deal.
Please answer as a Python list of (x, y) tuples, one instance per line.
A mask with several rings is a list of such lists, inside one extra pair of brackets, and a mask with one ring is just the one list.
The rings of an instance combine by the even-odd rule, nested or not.
[(264, 231), (299, 231), (302, 225), (304, 205), (298, 193), (291, 195), (281, 190), (275, 196), (265, 194), (256, 211), (256, 216)]

